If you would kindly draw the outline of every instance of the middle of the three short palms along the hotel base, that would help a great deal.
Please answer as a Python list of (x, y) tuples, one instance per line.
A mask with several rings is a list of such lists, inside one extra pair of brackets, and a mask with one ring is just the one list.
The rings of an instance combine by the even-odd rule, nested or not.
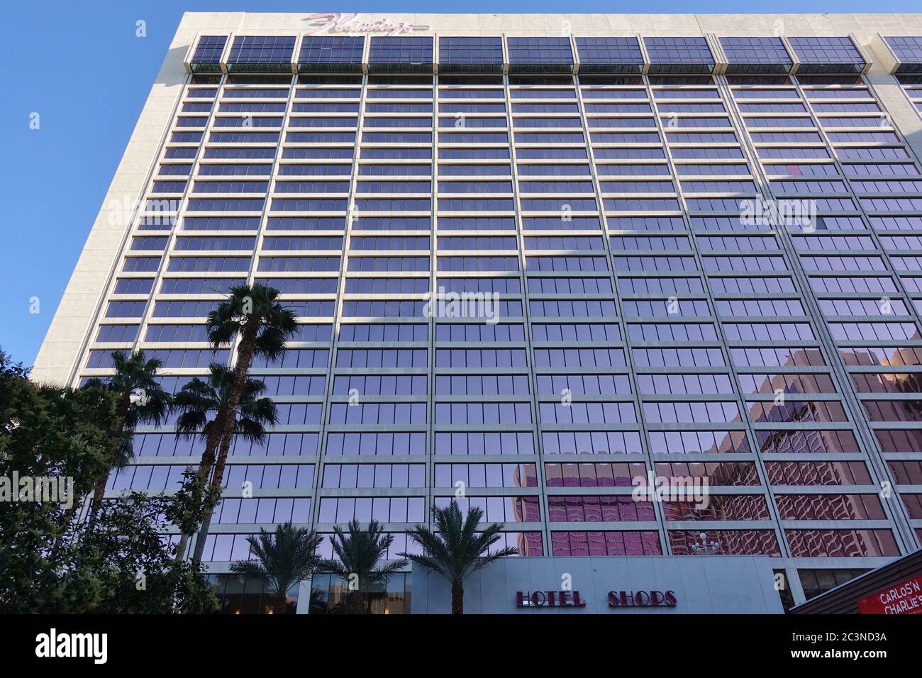
[(348, 582), (346, 612), (371, 614), (372, 600), (365, 592), (373, 585), (384, 586), (391, 575), (407, 566), (406, 560), (382, 565), (380, 562), (394, 541), (393, 534), (384, 534), (381, 523), (372, 520), (368, 529), (361, 529), (358, 520), (349, 522), (349, 533), (340, 526), (333, 528), (331, 544), (338, 560), (326, 560), (320, 571), (342, 577)]

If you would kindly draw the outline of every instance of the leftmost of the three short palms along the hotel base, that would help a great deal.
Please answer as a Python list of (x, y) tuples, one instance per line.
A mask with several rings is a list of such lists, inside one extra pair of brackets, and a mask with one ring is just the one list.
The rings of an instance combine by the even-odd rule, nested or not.
[(275, 534), (260, 529), (258, 537), (246, 539), (256, 559), (236, 561), (231, 564), (231, 572), (264, 579), (278, 596), (275, 613), (284, 614), (290, 589), (312, 577), (323, 562), (317, 555), (321, 540), (313, 529), (295, 528), (290, 522), (277, 525)]

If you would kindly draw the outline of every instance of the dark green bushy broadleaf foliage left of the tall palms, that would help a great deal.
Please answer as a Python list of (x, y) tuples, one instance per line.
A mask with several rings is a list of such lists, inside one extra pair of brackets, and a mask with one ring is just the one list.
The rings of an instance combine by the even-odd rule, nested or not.
[(103, 501), (95, 520), (72, 509), (108, 469), (117, 394), (32, 383), (0, 351), (0, 493), (20, 479), (55, 481), (65, 494), (4, 497), (0, 613), (208, 612), (217, 600), (194, 564), (175, 564), (162, 535), (171, 497)]

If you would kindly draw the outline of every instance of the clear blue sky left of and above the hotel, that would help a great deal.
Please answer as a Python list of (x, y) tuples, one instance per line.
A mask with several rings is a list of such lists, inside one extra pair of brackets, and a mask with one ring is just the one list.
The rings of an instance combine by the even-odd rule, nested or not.
[[(913, 12), (918, 0), (26, 0), (4, 7), (0, 347), (31, 364), (183, 11)], [(137, 38), (136, 21), (147, 22)], [(15, 57), (15, 58), (14, 58)], [(30, 129), (30, 114), (40, 128)], [(30, 313), (38, 297), (39, 313)]]

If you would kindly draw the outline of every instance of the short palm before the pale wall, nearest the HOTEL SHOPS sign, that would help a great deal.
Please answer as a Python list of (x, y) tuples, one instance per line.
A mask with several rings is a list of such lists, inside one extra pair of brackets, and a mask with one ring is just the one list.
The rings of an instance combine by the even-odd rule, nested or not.
[(502, 539), (502, 523), (491, 523), (477, 530), (483, 509), (471, 506), (462, 520), (461, 509), (452, 499), (444, 508), (432, 506), (435, 532), (422, 525), (415, 526), (408, 536), (420, 544), (422, 553), (400, 553), (423, 569), (445, 577), (452, 585), (452, 614), (464, 614), (464, 580), (492, 562), (514, 555), (512, 546), (490, 551)]

